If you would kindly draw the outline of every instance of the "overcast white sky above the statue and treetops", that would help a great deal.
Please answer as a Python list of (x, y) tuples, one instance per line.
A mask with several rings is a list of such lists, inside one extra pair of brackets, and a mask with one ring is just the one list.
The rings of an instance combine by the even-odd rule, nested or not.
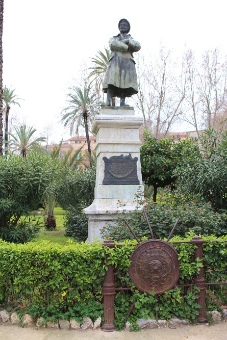
[(21, 108), (15, 110), (41, 134), (53, 123), (52, 140), (67, 139), (60, 113), (68, 87), (83, 62), (108, 46), (118, 34), (118, 21), (127, 18), (130, 34), (143, 54), (154, 53), (160, 42), (181, 57), (219, 47), (227, 54), (225, 0), (5, 0), (3, 83), (16, 89)]

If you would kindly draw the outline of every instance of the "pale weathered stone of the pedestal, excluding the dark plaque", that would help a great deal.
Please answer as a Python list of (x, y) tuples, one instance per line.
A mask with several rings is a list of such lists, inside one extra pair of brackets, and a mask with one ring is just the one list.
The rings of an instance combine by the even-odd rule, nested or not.
[[(129, 107), (127, 107), (129, 108)], [(141, 186), (143, 192), (142, 175), (140, 165), (139, 128), (143, 124), (143, 118), (135, 116), (134, 110), (105, 109), (95, 117), (92, 131), (96, 135), (96, 182), (93, 203), (84, 209), (88, 218), (88, 242), (94, 238), (102, 240), (102, 229), (106, 222), (113, 220), (113, 214), (119, 208), (118, 199), (122, 201), (125, 212), (137, 208), (135, 192)], [(103, 185), (105, 177), (105, 163), (103, 158), (132, 154), (132, 158), (138, 158), (137, 176), (140, 185)], [(124, 187), (124, 188), (122, 188)]]

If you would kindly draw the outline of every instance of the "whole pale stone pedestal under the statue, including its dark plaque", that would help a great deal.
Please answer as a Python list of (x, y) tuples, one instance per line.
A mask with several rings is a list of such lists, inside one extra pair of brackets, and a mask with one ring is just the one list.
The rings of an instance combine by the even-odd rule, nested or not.
[[(88, 218), (88, 242), (102, 239), (100, 230), (112, 221), (117, 201), (126, 211), (136, 207), (135, 193), (142, 187), (139, 127), (143, 118), (132, 107), (104, 107), (95, 117), (96, 184), (93, 203), (84, 209)], [(125, 184), (127, 183), (127, 184)]]

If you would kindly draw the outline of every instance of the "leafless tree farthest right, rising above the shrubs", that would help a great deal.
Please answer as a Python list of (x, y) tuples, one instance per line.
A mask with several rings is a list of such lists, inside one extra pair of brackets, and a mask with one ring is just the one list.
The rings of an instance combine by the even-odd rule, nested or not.
[[(217, 48), (206, 51), (200, 64), (192, 50), (186, 53), (189, 86), (186, 99), (190, 109), (185, 108), (185, 120), (192, 124), (198, 138), (200, 128), (216, 128), (223, 117), (226, 99), (226, 61), (221, 62)], [(224, 128), (224, 125), (222, 125)]]

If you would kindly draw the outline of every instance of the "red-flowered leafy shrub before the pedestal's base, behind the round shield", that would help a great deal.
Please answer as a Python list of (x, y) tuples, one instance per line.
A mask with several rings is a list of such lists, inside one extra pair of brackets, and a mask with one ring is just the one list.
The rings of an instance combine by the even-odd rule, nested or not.
[[(136, 195), (136, 194), (135, 194)], [(138, 196), (140, 195), (137, 194)], [(138, 197), (140, 198), (140, 197)], [(135, 211), (125, 214), (124, 207), (119, 202), (119, 209), (114, 215), (114, 220), (100, 230), (104, 238), (121, 242), (125, 239), (133, 239), (124, 220), (127, 220), (138, 238), (146, 236), (150, 238), (150, 232), (141, 206), (145, 200), (138, 201), (138, 207)], [(194, 230), (196, 234), (223, 234), (226, 233), (226, 215), (218, 214), (212, 210), (211, 202), (206, 204), (191, 200), (187, 203), (185, 199), (179, 200), (177, 204), (169, 203), (148, 203), (145, 211), (153, 229), (154, 236), (157, 239), (167, 238), (174, 226), (176, 220), (180, 218), (174, 234), (186, 236), (188, 231)]]

